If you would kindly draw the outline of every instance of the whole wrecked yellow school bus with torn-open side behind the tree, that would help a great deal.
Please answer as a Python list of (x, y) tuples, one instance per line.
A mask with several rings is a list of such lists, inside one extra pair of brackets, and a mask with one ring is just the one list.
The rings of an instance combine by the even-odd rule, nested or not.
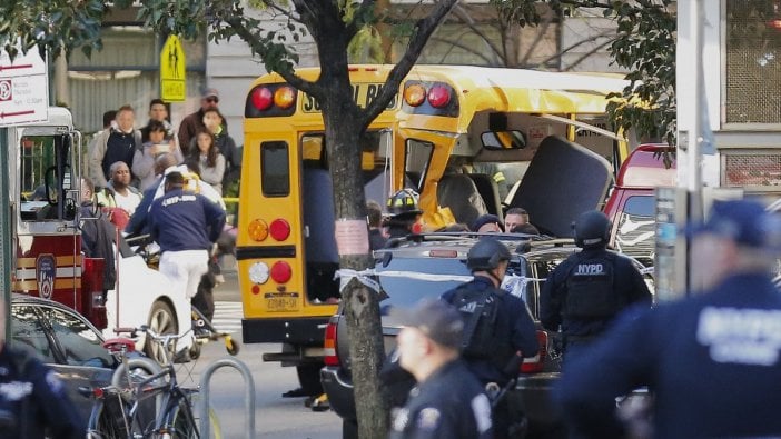
[[(390, 69), (350, 67), (355, 101), (365, 107), (377, 97)], [(319, 69), (296, 72), (314, 81)], [(555, 136), (620, 159), (615, 151), (623, 143), (605, 129), (604, 113), (606, 94), (623, 86), (617, 76), (606, 74), (416, 66), (403, 81), (403, 92), (362, 139), (366, 199), (384, 206), (389, 193), (412, 187), (422, 196), (428, 228), (435, 229), (466, 222), (455, 203), (444, 202), (448, 193), (437, 193), (448, 180), (458, 180), (448, 177), (448, 167), (468, 166), (471, 184), (481, 188), (486, 181), (478, 177), (498, 184), (495, 172), (481, 171), (486, 166), (506, 166), (505, 181), (520, 181), (543, 140)], [(593, 173), (603, 171), (597, 166)], [(280, 352), (266, 353), (264, 360), (296, 366), (306, 393), (319, 388), (324, 327), (339, 296), (332, 188), (318, 102), (278, 74), (258, 78), (246, 98), (239, 193), (243, 337), (245, 342), (281, 343)], [(510, 196), (498, 200), (490, 193), (481, 191), (473, 200), (449, 191), (451, 198), (480, 200), (484, 211), (501, 216), (501, 201)], [(527, 207), (533, 217), (545, 217)]]

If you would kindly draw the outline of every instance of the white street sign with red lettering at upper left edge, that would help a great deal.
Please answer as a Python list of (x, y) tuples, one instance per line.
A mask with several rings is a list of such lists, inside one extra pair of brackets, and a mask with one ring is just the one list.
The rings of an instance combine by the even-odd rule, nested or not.
[(11, 62), (0, 50), (0, 127), (39, 122), (49, 117), (49, 69), (37, 48)]

